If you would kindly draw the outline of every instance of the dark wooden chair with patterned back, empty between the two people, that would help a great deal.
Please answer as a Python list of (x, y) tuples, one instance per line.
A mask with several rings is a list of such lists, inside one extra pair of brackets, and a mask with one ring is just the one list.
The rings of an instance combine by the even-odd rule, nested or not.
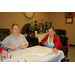
[(29, 42), (29, 47), (39, 45), (38, 38), (35, 38), (35, 31), (29, 30), (27, 32), (27, 41)]

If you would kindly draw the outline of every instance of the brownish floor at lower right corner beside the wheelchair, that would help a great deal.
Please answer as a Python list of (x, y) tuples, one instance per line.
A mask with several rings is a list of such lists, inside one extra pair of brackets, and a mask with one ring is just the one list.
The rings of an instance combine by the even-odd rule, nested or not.
[(69, 62), (75, 62), (75, 47), (74, 46), (69, 46), (69, 52), (68, 52), (68, 57)]

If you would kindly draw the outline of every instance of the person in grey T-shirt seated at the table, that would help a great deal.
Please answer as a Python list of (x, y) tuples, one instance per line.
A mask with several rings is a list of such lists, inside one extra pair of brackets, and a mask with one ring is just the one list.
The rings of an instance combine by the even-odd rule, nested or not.
[(12, 34), (2, 41), (7, 46), (8, 52), (27, 48), (29, 43), (22, 34), (19, 34), (19, 25), (14, 23), (11, 29)]

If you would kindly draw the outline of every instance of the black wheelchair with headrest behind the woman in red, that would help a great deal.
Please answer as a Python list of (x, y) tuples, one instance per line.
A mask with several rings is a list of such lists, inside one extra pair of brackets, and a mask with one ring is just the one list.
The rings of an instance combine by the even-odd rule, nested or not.
[(59, 30), (59, 37), (60, 37), (60, 41), (63, 45), (63, 47), (61, 49), (65, 55), (65, 58), (62, 59), (61, 62), (65, 62), (65, 61), (69, 62), (69, 59), (66, 59), (68, 56), (68, 51), (69, 51), (69, 43), (68, 43), (68, 37), (66, 37), (66, 30)]

